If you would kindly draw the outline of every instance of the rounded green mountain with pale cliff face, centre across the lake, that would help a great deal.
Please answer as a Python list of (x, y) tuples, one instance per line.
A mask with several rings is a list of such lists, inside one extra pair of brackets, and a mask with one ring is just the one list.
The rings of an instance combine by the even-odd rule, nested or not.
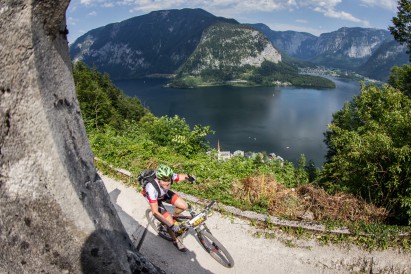
[(191, 88), (213, 85), (334, 88), (329, 79), (300, 75), (260, 31), (242, 24), (219, 23), (203, 33), (200, 43), (169, 83)]

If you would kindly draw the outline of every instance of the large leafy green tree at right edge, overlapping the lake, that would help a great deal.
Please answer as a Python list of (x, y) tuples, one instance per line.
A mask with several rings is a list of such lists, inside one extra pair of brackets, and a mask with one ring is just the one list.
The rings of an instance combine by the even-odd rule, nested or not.
[(323, 181), (386, 207), (411, 223), (411, 99), (390, 87), (363, 86), (333, 115)]

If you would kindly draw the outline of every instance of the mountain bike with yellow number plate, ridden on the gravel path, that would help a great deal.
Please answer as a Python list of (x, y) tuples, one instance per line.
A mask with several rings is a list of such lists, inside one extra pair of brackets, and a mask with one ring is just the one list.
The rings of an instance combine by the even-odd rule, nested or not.
[[(234, 260), (231, 257), (227, 249), (211, 234), (205, 221), (208, 217), (208, 212), (211, 207), (216, 203), (212, 201), (201, 212), (195, 213), (191, 210), (189, 205), (190, 216), (178, 216), (177, 222), (180, 224), (180, 230), (176, 233), (176, 236), (184, 238), (187, 236), (190, 229), (194, 230), (197, 235), (199, 243), (203, 248), (221, 265), (231, 268), (234, 266)], [(150, 209), (146, 210), (146, 218), (150, 226), (158, 233), (158, 235), (168, 241), (172, 241), (170, 234), (167, 232), (167, 226), (157, 220)]]

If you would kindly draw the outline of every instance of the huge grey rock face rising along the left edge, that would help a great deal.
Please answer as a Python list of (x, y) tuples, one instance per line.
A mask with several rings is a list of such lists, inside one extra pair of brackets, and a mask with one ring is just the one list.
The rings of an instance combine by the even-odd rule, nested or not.
[(69, 0), (0, 2), (0, 272), (158, 272), (96, 173), (75, 95)]

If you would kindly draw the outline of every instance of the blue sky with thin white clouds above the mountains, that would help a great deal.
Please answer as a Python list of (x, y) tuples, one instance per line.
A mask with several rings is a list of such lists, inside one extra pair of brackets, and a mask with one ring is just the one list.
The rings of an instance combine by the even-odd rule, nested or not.
[(182, 8), (319, 36), (341, 27), (387, 29), (396, 16), (397, 0), (71, 0), (66, 12), (69, 43), (107, 24)]

